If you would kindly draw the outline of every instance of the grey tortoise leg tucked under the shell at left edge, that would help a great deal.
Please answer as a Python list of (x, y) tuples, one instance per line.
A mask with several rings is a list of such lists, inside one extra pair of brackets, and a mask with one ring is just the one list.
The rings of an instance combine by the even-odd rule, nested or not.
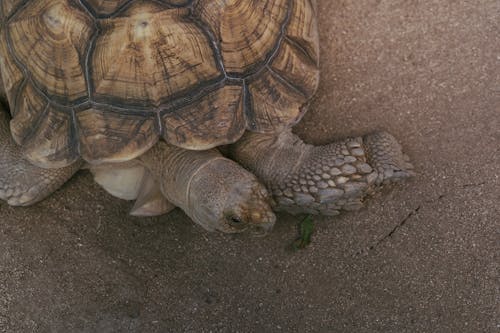
[(76, 162), (61, 169), (42, 169), (31, 164), (12, 139), (8, 113), (0, 104), (0, 199), (12, 206), (37, 203), (60, 188), (80, 166)]

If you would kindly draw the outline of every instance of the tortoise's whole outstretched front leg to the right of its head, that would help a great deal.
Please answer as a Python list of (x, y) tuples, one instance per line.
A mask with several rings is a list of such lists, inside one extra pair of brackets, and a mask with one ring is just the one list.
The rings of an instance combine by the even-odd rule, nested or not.
[(388, 133), (326, 146), (305, 144), (286, 131), (247, 133), (230, 156), (257, 175), (273, 193), (278, 210), (337, 215), (356, 210), (377, 187), (412, 175), (412, 165)]

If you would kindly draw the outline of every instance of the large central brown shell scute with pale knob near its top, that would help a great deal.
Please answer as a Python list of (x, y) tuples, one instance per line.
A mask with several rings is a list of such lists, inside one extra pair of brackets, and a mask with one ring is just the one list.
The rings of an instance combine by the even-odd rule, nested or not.
[(91, 62), (93, 99), (153, 109), (220, 77), (210, 42), (187, 14), (143, 6), (102, 21)]

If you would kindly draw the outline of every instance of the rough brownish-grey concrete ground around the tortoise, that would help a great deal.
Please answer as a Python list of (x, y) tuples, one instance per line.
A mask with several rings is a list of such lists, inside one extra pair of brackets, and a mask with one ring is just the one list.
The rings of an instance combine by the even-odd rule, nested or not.
[(397, 136), (418, 176), (266, 238), (140, 219), (81, 172), (0, 204), (2, 332), (498, 332), (500, 2), (319, 0), (322, 82), (297, 127)]

